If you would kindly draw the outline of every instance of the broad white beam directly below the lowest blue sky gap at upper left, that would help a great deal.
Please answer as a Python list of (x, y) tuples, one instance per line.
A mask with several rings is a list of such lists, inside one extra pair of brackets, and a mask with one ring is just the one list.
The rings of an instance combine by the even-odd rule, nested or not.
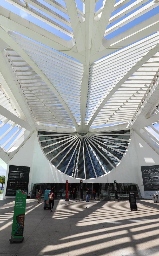
[(81, 62), (84, 60), (84, 56), (71, 50), (75, 45), (74, 39), (66, 41), (3, 7), (0, 8), (0, 24), (2, 26), (5, 24), (5, 27), (9, 30), (16, 31), (19, 34), (25, 34), (26, 37), (67, 54)]

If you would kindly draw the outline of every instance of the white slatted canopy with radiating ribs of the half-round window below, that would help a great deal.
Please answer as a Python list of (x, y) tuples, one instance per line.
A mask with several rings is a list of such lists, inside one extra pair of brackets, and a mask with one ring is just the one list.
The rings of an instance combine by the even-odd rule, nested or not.
[[(64, 174), (78, 149), (74, 178), (115, 168), (131, 129), (159, 154), (158, 29), (159, 0), (1, 0), (0, 157), (8, 163), (36, 130), (46, 157), (57, 145), (48, 160)], [(80, 154), (92, 176), (85, 160), (77, 175)]]

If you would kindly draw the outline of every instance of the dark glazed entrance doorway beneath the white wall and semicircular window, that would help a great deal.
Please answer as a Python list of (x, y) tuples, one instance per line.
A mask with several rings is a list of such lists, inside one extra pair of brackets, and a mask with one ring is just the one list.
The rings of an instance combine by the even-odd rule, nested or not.
[[(55, 199), (65, 199), (66, 198), (66, 183), (36, 183), (32, 184), (30, 197), (37, 198), (38, 190), (40, 189), (43, 193), (46, 189), (53, 190), (55, 194)], [(114, 193), (114, 183), (83, 183), (83, 199), (86, 198), (86, 188), (90, 190), (90, 200), (93, 199), (93, 190), (95, 189), (96, 199), (113, 199), (115, 197)], [(80, 183), (69, 183), (69, 199), (72, 199), (72, 191), (75, 189), (75, 199), (80, 199)], [(128, 191), (135, 191), (136, 199), (141, 199), (141, 193), (137, 184), (132, 183), (117, 183), (117, 192), (119, 199), (128, 199)]]

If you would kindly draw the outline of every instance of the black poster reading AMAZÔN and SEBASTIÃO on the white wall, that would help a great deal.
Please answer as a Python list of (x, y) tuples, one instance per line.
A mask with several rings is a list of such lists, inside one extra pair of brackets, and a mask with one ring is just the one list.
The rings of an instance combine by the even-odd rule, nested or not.
[(159, 191), (159, 165), (141, 166), (144, 191)]

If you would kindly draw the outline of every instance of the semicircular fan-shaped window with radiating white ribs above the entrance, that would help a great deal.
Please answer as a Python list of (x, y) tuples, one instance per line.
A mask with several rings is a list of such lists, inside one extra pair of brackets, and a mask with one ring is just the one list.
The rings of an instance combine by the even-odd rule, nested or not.
[(107, 174), (121, 162), (130, 142), (130, 130), (103, 133), (38, 131), (43, 153), (59, 171), (80, 179)]

